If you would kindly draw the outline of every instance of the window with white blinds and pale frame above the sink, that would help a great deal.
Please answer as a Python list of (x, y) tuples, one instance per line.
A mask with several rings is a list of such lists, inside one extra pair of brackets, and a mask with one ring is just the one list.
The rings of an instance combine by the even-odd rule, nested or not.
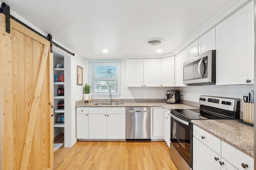
[(88, 60), (89, 84), (94, 97), (120, 97), (120, 63), (118, 60)]

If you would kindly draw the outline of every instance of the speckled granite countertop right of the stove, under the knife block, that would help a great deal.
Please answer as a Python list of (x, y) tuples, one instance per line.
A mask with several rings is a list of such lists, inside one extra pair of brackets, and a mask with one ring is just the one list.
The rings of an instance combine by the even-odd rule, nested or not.
[(192, 120), (191, 123), (254, 157), (253, 127), (238, 120)]

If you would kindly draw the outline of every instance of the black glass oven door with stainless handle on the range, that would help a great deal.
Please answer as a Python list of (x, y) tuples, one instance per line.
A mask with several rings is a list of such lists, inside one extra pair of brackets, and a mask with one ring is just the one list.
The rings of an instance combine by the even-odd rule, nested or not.
[(191, 123), (171, 111), (170, 142), (186, 163), (192, 166)]

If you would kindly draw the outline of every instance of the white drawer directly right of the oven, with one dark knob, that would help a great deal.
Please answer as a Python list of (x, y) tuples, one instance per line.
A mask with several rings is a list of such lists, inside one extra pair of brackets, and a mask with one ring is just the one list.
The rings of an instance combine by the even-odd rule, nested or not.
[(221, 150), (220, 139), (204, 131), (203, 129), (197, 127), (196, 125), (193, 125), (193, 136), (196, 137), (202, 143), (204, 143), (206, 146), (208, 146), (210, 149), (220, 154), (220, 150)]

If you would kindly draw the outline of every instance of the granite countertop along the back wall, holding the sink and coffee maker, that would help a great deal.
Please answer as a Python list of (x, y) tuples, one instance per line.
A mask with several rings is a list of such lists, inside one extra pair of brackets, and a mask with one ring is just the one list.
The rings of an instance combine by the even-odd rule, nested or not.
[(166, 104), (163, 102), (127, 102), (122, 105), (95, 105), (96, 103), (85, 103), (83, 101), (77, 101), (76, 107), (164, 107), (170, 109), (198, 109), (196, 107), (188, 106), (185, 104)]

